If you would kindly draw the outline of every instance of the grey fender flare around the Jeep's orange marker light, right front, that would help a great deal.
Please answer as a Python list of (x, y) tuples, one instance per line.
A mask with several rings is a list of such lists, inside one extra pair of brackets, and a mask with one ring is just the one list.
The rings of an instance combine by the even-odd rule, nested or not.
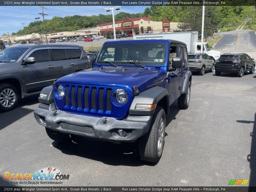
[(129, 109), (129, 115), (153, 115), (155, 113), (155, 109), (151, 111), (135, 110), (136, 104), (158, 103), (162, 98), (166, 98), (167, 113), (169, 113), (170, 107), (168, 91), (163, 87), (157, 86), (147, 89), (134, 97)]

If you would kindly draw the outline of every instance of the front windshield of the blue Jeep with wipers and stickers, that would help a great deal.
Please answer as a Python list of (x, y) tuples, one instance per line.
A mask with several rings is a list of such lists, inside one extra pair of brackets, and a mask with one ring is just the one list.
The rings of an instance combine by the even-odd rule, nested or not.
[(144, 66), (163, 65), (166, 58), (165, 43), (116, 43), (103, 45), (98, 63), (113, 62), (116, 65), (134, 65), (138, 62)]

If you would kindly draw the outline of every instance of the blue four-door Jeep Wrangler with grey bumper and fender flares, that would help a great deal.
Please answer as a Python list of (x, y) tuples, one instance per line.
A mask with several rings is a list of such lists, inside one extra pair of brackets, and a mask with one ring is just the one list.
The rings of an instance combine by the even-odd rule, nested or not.
[(34, 115), (58, 142), (73, 137), (138, 141), (141, 159), (161, 158), (166, 114), (178, 99), (189, 107), (186, 44), (173, 40), (105, 42), (93, 68), (45, 87)]

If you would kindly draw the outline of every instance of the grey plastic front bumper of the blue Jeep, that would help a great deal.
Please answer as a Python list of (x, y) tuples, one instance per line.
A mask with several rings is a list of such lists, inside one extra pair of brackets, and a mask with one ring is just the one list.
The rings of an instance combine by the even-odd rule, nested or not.
[[(35, 110), (34, 116), (40, 125), (49, 129), (114, 143), (136, 141), (147, 133), (152, 119), (152, 116), (128, 116), (124, 120), (117, 120), (111, 117), (91, 117), (43, 108)], [(118, 134), (119, 129), (127, 135), (121, 137)]]

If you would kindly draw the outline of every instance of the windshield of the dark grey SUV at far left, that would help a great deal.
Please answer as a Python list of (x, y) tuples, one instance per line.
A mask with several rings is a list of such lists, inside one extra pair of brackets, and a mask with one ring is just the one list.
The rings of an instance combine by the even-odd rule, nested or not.
[(27, 47), (10, 47), (0, 52), (0, 62), (15, 62), (27, 50)]

